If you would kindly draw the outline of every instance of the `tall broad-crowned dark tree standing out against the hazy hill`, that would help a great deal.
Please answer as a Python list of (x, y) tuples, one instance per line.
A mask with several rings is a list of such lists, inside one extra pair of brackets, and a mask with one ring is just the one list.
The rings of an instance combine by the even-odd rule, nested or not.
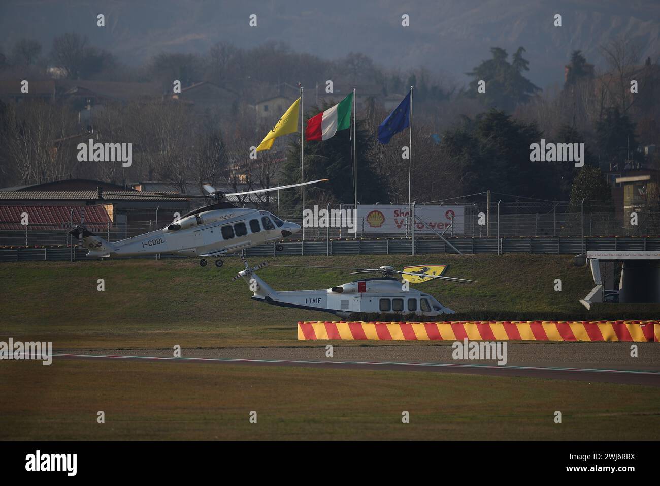
[[(490, 49), (492, 59), (482, 61), (467, 75), (473, 77), (469, 97), (479, 99), (484, 106), (512, 112), (518, 104), (524, 104), (541, 88), (523, 76), (529, 71), (529, 62), (523, 58), (525, 48), (519, 47), (513, 54), (513, 63), (507, 58), (506, 50), (498, 47)], [(486, 92), (479, 93), (479, 81), (486, 81)]]

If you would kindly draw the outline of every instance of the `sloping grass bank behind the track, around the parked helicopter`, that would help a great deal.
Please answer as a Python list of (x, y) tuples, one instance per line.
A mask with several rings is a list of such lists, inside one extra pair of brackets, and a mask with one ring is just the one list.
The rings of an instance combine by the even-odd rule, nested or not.
[[(259, 261), (251, 261), (257, 264)], [(578, 317), (591, 290), (586, 268), (557, 255), (352, 255), (277, 257), (271, 264), (348, 267), (446, 263), (448, 276), (478, 284), (426, 282), (423, 289), (461, 318), (516, 311), (522, 316), (567, 313)], [(31, 262), (0, 265), (2, 335), (53, 341), (56, 348), (297, 346), (299, 320), (336, 319), (331, 314), (286, 309), (250, 300), (236, 258), (221, 270), (195, 261)], [(354, 280), (341, 270), (277, 268), (259, 274), (276, 290), (328, 288)], [(105, 291), (97, 290), (103, 278)], [(562, 280), (555, 292), (554, 279)]]

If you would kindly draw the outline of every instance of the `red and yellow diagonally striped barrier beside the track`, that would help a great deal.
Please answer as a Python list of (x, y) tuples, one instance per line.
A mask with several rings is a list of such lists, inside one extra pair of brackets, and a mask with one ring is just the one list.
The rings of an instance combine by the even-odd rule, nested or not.
[(298, 339), (660, 341), (660, 321), (300, 321)]

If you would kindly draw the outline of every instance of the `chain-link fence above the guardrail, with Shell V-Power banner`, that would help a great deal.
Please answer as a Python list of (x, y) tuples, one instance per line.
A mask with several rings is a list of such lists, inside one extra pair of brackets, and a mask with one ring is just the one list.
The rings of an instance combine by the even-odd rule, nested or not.
[[(261, 206), (284, 220), (303, 226), (289, 240), (319, 241), (353, 238), (410, 238), (411, 216), (407, 206), (359, 206), (354, 218), (352, 204), (309, 206), (303, 218), (299, 206)], [(366, 209), (365, 209), (366, 208)], [(398, 209), (397, 209), (398, 208)], [(403, 210), (401, 209), (403, 208)], [(154, 208), (155, 209), (155, 208)], [(323, 220), (323, 210), (339, 221)], [(391, 214), (396, 225), (387, 226)], [(147, 214), (147, 213), (144, 213)], [(153, 212), (149, 214), (154, 215)], [(420, 216), (421, 215), (421, 216)], [(317, 218), (314, 218), (317, 216)], [(320, 216), (320, 218), (319, 218)], [(490, 204), (416, 205), (415, 237), (581, 237), (581, 236), (657, 236), (660, 235), (660, 212), (640, 211), (636, 216), (623, 214), (611, 202), (588, 202), (571, 206), (568, 202), (500, 202)], [(116, 217), (114, 222), (86, 222), (90, 231), (108, 241), (118, 241), (160, 229), (172, 222), (174, 215), (161, 211), (157, 219), (137, 220), (140, 214)], [(341, 220), (341, 218), (344, 218)], [(384, 221), (384, 223), (383, 223)], [(444, 222), (443, 222), (444, 221)], [(0, 222), (0, 247), (69, 245), (69, 231), (80, 221), (49, 224)], [(333, 223), (329, 226), (328, 223)], [(429, 229), (432, 226), (434, 229)], [(75, 242), (74, 242), (75, 243)]]

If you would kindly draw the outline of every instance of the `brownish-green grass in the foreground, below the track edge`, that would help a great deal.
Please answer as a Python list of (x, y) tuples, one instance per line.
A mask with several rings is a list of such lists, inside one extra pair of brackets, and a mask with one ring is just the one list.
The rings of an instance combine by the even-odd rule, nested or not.
[(635, 385), (74, 360), (5, 362), (0, 383), (0, 440), (660, 438), (657, 388)]

